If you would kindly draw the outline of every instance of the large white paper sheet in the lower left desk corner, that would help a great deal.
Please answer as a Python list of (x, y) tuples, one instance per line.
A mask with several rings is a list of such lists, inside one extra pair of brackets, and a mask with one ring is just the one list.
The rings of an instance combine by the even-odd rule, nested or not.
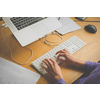
[(39, 78), (40, 74), (0, 57), (0, 84), (35, 84)]

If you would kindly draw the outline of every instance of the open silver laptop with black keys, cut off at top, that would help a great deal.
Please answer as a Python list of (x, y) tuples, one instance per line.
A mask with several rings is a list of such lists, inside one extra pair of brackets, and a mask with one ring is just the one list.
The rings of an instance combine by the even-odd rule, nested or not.
[(56, 17), (3, 17), (3, 20), (23, 47), (62, 26)]

